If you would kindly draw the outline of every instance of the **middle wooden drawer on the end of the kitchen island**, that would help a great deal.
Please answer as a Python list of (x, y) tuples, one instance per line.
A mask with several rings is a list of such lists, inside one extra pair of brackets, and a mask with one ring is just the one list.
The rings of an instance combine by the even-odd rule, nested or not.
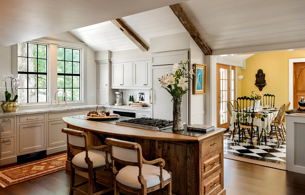
[(222, 168), (222, 149), (202, 158), (202, 180)]

